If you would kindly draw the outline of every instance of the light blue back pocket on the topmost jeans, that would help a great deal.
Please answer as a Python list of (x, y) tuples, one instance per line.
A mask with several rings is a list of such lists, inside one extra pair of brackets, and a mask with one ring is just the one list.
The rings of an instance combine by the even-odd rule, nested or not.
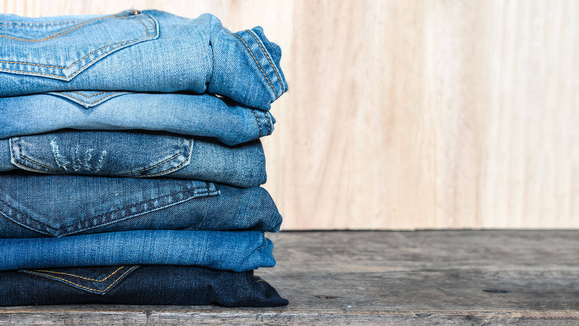
[(70, 81), (116, 50), (157, 37), (152, 16), (128, 11), (63, 21), (2, 20), (0, 72)]

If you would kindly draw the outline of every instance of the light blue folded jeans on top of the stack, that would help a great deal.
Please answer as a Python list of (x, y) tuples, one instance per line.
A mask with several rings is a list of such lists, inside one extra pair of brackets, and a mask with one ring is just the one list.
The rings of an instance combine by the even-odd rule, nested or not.
[(287, 91), (279, 46), (217, 17), (0, 15), (0, 96), (54, 90), (218, 93), (268, 109)]

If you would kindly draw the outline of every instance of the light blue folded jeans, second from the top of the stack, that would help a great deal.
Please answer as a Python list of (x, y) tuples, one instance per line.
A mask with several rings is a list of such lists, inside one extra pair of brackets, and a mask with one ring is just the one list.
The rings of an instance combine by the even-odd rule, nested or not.
[[(86, 108), (70, 96), (97, 102)], [(208, 94), (94, 90), (1, 97), (0, 117), (0, 139), (63, 128), (145, 129), (215, 137), (228, 145), (270, 135), (275, 122), (269, 112)]]

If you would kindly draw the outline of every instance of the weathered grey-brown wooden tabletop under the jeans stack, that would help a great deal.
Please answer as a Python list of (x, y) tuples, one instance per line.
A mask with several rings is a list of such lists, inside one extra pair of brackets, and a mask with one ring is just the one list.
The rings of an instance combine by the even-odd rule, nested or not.
[(296, 231), (280, 308), (0, 307), (0, 325), (577, 325), (579, 231)]

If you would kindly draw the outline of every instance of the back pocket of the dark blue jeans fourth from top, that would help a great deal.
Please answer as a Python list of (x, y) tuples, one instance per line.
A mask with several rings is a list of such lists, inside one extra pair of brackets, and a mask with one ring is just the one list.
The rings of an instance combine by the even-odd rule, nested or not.
[(8, 172), (0, 174), (0, 216), (61, 237), (219, 194), (198, 180)]

